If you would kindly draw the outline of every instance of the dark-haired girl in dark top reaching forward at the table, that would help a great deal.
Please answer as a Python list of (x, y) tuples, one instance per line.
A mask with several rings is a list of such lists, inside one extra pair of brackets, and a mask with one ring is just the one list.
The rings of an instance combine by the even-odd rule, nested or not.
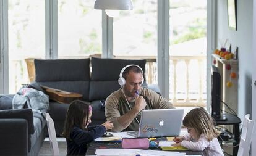
[(91, 123), (92, 106), (84, 101), (73, 101), (67, 110), (62, 136), (67, 141), (67, 155), (85, 155), (87, 144), (102, 136), (113, 124), (106, 121), (100, 126), (88, 128)]

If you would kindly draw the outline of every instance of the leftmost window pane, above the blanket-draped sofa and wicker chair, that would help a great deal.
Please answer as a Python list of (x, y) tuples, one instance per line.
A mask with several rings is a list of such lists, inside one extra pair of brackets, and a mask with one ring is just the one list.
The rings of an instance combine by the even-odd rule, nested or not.
[(29, 83), (25, 58), (45, 58), (45, 1), (8, 1), (9, 92)]

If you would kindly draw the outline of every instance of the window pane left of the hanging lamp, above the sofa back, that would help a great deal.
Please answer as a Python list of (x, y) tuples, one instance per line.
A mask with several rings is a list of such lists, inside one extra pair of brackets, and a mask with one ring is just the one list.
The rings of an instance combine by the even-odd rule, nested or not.
[(101, 10), (94, 1), (58, 1), (59, 58), (102, 53)]

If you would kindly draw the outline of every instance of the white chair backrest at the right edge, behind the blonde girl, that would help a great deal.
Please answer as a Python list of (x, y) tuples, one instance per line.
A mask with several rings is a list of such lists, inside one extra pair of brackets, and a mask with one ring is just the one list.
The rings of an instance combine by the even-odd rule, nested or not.
[(250, 152), (250, 143), (252, 142), (252, 135), (254, 132), (255, 120), (250, 120), (250, 114), (244, 116), (244, 123), (242, 125), (242, 134), (237, 156), (248, 156)]

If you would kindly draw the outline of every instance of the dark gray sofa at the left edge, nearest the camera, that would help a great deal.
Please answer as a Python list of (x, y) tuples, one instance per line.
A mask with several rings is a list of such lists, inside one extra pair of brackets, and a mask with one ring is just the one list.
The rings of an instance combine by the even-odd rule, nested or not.
[[(46, 136), (46, 121), (31, 109), (10, 110), (0, 96), (0, 155), (38, 155)], [(12, 106), (12, 105), (11, 105)]]

